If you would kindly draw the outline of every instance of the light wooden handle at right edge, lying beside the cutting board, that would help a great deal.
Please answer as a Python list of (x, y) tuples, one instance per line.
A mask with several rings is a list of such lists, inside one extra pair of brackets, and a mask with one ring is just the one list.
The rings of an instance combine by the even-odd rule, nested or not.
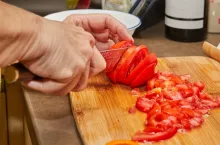
[(220, 49), (219, 48), (217, 48), (216, 46), (206, 41), (203, 43), (202, 47), (206, 55), (220, 62)]

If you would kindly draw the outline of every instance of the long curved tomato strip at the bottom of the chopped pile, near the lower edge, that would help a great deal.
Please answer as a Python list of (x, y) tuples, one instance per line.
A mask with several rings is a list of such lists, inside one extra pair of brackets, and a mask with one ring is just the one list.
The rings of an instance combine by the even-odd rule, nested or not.
[(138, 141), (138, 142), (144, 142), (144, 141), (160, 141), (160, 140), (166, 140), (171, 138), (177, 133), (176, 127), (171, 127), (163, 132), (157, 132), (157, 133), (147, 133), (147, 132), (137, 132), (132, 140)]

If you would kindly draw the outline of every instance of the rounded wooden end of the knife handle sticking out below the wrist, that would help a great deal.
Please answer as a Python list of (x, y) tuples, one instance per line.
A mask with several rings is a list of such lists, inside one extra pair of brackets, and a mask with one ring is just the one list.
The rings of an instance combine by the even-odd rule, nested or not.
[(15, 83), (16, 81), (29, 81), (41, 79), (41, 77), (30, 72), (21, 63), (15, 63), (4, 68), (4, 78), (5, 82), (8, 84)]

